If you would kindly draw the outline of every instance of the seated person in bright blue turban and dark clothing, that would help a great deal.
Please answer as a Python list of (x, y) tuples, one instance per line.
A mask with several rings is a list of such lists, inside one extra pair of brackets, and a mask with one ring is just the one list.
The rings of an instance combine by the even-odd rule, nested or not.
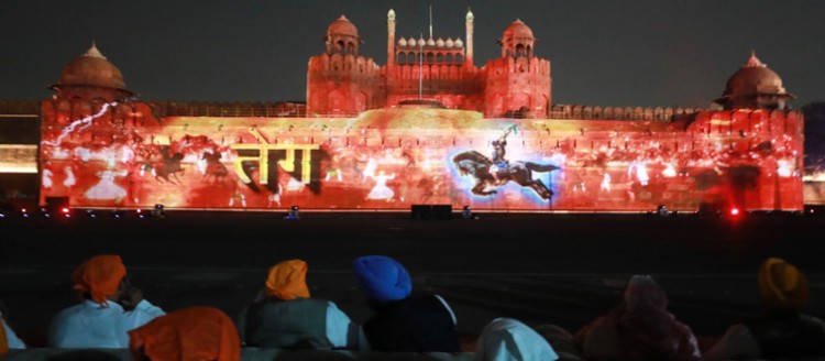
[(409, 273), (397, 261), (367, 255), (353, 262), (374, 315), (362, 326), (361, 349), (385, 352), (459, 352), (455, 315), (441, 296), (410, 296)]

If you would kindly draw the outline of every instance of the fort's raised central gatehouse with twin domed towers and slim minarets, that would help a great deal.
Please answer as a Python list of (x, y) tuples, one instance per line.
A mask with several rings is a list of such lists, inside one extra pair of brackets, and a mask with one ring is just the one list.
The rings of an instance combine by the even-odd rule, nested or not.
[(309, 59), (307, 110), (310, 114), (358, 114), (425, 99), (487, 118), (519, 114), (547, 118), (550, 62), (534, 55), (532, 31), (520, 20), (504, 31), (502, 56), (483, 67), (473, 62), (473, 13), (461, 39), (405, 37), (395, 33), (395, 12), (387, 13), (387, 64), (360, 54), (358, 28), (341, 17), (327, 29), (326, 51)]

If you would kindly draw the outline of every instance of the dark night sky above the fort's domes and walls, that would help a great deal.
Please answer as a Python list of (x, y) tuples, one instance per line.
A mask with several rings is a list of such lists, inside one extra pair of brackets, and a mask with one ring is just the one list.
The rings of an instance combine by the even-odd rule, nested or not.
[(386, 64), (386, 13), (397, 35), (464, 40), (475, 14), (475, 64), (515, 19), (552, 63), (553, 103), (706, 107), (756, 50), (801, 108), (825, 100), (821, 0), (2, 0), (0, 99), (51, 95), (92, 40), (147, 100), (305, 100), (309, 56), (345, 14), (361, 54)]

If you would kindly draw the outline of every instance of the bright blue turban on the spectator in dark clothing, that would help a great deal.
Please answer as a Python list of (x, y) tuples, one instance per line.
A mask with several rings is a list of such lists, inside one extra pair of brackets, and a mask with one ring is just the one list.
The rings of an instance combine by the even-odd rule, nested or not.
[(375, 300), (398, 300), (409, 296), (413, 282), (398, 261), (384, 255), (365, 255), (352, 263), (361, 286)]

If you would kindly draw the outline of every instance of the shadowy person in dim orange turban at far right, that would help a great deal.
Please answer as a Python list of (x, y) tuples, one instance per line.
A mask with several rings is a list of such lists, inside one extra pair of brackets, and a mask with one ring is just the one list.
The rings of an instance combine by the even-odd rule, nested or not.
[(765, 313), (730, 326), (705, 352), (706, 360), (813, 359), (825, 357), (825, 324), (803, 315), (810, 295), (805, 275), (771, 258), (757, 275)]

